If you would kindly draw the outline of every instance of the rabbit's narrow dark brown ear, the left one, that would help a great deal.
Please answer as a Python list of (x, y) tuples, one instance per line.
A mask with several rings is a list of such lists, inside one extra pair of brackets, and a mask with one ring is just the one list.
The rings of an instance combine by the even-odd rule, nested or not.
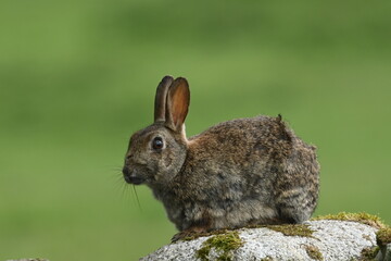
[(167, 92), (173, 82), (174, 78), (172, 76), (165, 76), (157, 85), (155, 96), (154, 122), (165, 122)]

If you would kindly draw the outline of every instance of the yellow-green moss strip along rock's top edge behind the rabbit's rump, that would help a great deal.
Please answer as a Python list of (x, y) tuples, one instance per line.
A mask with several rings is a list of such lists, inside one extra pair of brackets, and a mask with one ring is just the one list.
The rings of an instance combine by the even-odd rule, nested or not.
[(370, 225), (375, 228), (383, 228), (387, 227), (384, 225), (384, 223), (380, 220), (379, 216), (377, 215), (371, 215), (365, 212), (361, 212), (361, 213), (346, 213), (346, 212), (341, 212), (338, 214), (328, 214), (328, 215), (320, 215), (320, 216), (316, 216), (313, 217), (312, 220), (317, 221), (317, 220), (340, 220), (340, 221), (354, 221), (354, 222), (358, 222), (362, 224), (366, 224), (366, 225)]

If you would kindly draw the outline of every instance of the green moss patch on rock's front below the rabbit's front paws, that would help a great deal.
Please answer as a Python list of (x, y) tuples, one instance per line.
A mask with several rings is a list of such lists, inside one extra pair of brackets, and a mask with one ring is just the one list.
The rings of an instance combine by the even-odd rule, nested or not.
[(238, 232), (226, 232), (225, 234), (215, 235), (203, 243), (202, 248), (197, 251), (197, 258), (202, 261), (207, 261), (212, 248), (214, 248), (219, 257), (218, 261), (230, 261), (232, 260), (232, 251), (243, 245), (240, 239)]

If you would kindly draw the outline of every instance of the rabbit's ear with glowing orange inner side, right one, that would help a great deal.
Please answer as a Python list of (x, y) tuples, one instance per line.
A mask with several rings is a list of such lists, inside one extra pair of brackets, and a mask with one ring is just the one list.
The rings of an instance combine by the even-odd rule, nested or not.
[(190, 103), (189, 84), (179, 77), (169, 86), (166, 103), (165, 125), (175, 132), (181, 132)]

